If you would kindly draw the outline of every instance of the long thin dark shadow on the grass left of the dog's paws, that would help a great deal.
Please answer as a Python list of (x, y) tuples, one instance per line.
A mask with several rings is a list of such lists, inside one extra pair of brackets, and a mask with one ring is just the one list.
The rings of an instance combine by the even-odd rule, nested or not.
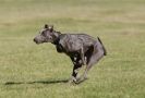
[(7, 82), (4, 85), (21, 85), (21, 84), (60, 84), (68, 83), (68, 79), (57, 79), (57, 81), (34, 81), (34, 82)]

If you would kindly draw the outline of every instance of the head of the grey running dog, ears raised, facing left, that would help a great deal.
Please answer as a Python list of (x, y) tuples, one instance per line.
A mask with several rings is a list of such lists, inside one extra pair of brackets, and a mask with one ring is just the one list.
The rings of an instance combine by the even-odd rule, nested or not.
[(36, 44), (53, 42), (56, 38), (53, 25), (46, 24), (39, 34), (34, 38)]

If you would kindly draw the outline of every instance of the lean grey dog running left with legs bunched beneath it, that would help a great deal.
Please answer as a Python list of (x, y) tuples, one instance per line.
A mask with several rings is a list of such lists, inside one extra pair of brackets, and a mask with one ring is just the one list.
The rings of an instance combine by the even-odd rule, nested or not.
[[(81, 83), (87, 78), (89, 69), (107, 54), (99, 37), (94, 38), (86, 34), (61, 34), (46, 24), (43, 30), (34, 38), (36, 44), (51, 42), (58, 52), (64, 52), (74, 64), (70, 83)], [(82, 76), (77, 76), (82, 65), (86, 69)]]

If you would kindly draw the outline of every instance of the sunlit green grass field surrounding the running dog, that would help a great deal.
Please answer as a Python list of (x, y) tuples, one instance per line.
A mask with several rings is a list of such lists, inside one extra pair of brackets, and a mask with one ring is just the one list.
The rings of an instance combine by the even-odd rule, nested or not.
[[(46, 23), (101, 38), (89, 79), (63, 83), (71, 60), (33, 42)], [(145, 0), (0, 0), (0, 98), (145, 98)]]

